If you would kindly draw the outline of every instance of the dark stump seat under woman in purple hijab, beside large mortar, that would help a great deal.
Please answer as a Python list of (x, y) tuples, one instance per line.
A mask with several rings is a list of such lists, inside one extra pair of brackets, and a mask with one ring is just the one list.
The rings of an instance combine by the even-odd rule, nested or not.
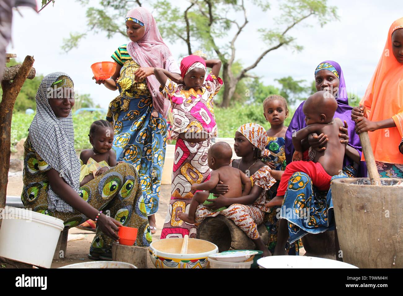
[(336, 260), (336, 246), (334, 244), (334, 230), (318, 234), (308, 233), (301, 238), (304, 256), (319, 257)]

